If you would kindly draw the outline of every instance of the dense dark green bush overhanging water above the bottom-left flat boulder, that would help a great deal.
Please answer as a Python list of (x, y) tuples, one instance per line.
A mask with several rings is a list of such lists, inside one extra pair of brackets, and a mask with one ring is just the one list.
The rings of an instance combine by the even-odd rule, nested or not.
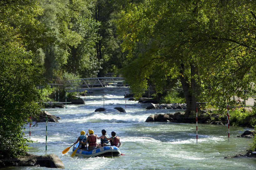
[(40, 111), (37, 85), (43, 85), (34, 56), (18, 44), (0, 46), (0, 158), (13, 158), (28, 150), (23, 124)]

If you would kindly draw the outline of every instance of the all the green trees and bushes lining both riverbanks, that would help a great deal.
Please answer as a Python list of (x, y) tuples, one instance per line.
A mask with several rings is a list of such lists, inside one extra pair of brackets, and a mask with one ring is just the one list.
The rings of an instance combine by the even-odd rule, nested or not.
[[(255, 9), (249, 0), (4, 0), (0, 158), (28, 150), (23, 124), (43, 108), (49, 82), (63, 95), (66, 80), (120, 75), (135, 97), (153, 90), (185, 102), (187, 116), (197, 102), (224, 115), (227, 99), (255, 94)], [(175, 89), (182, 96), (168, 97)], [(230, 114), (233, 125), (255, 125), (254, 108)]]

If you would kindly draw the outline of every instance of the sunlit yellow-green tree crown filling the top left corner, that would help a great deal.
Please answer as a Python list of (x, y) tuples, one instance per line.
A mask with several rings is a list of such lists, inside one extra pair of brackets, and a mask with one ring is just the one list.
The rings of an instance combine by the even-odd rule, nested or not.
[(42, 9), (37, 0), (3, 0), (0, 11), (1, 44), (14, 41), (29, 46), (32, 41), (40, 39), (43, 27), (35, 17), (41, 14)]

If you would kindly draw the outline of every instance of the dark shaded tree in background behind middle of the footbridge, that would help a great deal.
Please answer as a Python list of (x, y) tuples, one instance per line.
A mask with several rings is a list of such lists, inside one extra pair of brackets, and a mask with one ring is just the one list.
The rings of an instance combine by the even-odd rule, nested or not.
[(121, 41), (116, 35), (115, 22), (126, 3), (127, 1), (123, 0), (97, 0), (91, 9), (94, 19), (100, 23), (95, 44), (97, 59), (101, 63), (98, 77), (103, 77), (109, 72), (117, 73), (123, 66), (124, 55), (120, 48)]

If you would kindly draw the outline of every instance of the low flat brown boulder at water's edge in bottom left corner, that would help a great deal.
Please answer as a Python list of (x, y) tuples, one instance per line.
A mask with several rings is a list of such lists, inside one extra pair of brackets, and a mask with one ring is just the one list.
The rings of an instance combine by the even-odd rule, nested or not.
[(65, 168), (61, 159), (55, 154), (38, 156), (30, 153), (26, 153), (25, 155), (22, 155), (19, 158), (1, 159), (0, 168), (9, 166), (38, 166), (62, 169)]

